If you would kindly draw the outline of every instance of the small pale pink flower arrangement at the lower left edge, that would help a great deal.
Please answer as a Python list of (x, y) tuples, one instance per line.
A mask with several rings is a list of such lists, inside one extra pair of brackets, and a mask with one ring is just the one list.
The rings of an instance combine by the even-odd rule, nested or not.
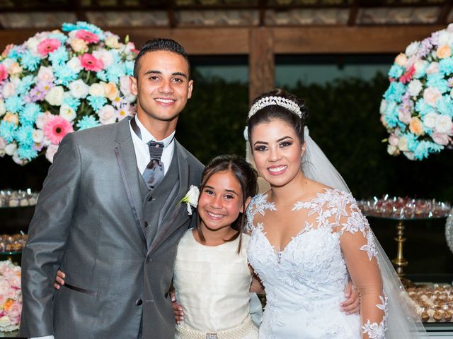
[(11, 261), (0, 261), (0, 332), (17, 330), (21, 312), (21, 268)]

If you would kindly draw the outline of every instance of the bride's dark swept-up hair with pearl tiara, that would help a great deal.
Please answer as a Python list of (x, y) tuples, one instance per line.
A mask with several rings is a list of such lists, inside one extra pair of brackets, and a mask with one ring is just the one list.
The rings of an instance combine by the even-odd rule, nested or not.
[(256, 125), (280, 119), (292, 126), (302, 144), (307, 116), (308, 109), (303, 100), (280, 88), (270, 90), (253, 100), (247, 120), (248, 142), (252, 143), (251, 135)]

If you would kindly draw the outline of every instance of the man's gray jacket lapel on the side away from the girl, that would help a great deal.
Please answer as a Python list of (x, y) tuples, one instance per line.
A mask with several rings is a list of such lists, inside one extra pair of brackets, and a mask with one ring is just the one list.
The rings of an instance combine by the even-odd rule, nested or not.
[(134, 215), (139, 234), (146, 244), (146, 239), (144, 237), (142, 194), (139, 186), (137, 158), (135, 156), (134, 143), (130, 134), (130, 119), (131, 118), (128, 117), (118, 123), (117, 135), (115, 136), (117, 145), (115, 145), (114, 150), (118, 166), (120, 167), (122, 182), (125, 185), (127, 201), (132, 209), (132, 214)]

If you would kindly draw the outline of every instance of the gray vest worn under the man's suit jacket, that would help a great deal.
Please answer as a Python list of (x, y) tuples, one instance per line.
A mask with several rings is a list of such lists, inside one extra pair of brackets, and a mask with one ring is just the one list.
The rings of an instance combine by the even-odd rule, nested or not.
[[(157, 227), (160, 221), (164, 218), (164, 204), (168, 201), (168, 196), (173, 192), (178, 192), (179, 189), (179, 172), (178, 172), (178, 150), (173, 149), (173, 157), (171, 158), (170, 168), (165, 174), (164, 179), (152, 191), (149, 191), (144, 182), (142, 175), (139, 174), (140, 191), (143, 196), (143, 220), (144, 232), (147, 239), (147, 248), (153, 242), (156, 236)], [(166, 206), (165, 206), (166, 207)]]

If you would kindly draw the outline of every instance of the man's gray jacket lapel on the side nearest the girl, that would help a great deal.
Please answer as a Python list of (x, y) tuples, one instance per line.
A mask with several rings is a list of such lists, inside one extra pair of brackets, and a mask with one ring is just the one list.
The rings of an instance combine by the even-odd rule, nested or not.
[(177, 230), (180, 225), (190, 219), (190, 215), (187, 212), (187, 205), (185, 203), (178, 204), (189, 190), (190, 166), (178, 141), (175, 142), (175, 152), (178, 152), (179, 165), (178, 190), (173, 189), (164, 203), (162, 208), (163, 213), (161, 214), (163, 217), (159, 217), (157, 234), (149, 247), (149, 251), (156, 249), (156, 247), (164, 242), (164, 240)]

